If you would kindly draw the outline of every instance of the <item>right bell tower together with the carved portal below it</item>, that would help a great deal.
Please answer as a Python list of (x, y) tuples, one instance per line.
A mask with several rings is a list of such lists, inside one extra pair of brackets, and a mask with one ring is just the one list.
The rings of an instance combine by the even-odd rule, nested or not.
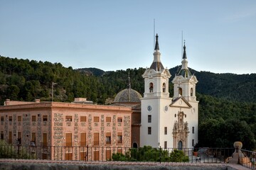
[[(196, 101), (196, 76), (191, 74), (188, 69), (188, 60), (186, 55), (186, 45), (183, 45), (183, 57), (181, 70), (175, 75), (172, 83), (174, 84), (173, 101), (184, 99), (188, 108), (180, 108), (176, 123), (173, 128), (174, 147), (191, 148), (198, 142), (198, 101)], [(183, 116), (183, 119), (179, 118)], [(178, 120), (177, 120), (178, 119)]]

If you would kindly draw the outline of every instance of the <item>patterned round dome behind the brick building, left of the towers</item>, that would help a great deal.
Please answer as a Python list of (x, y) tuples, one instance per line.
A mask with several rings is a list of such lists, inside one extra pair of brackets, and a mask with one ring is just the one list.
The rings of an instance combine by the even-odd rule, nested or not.
[(114, 103), (121, 103), (121, 102), (140, 102), (142, 95), (139, 94), (138, 91), (134, 89), (128, 88), (120, 91), (117, 96), (114, 98)]

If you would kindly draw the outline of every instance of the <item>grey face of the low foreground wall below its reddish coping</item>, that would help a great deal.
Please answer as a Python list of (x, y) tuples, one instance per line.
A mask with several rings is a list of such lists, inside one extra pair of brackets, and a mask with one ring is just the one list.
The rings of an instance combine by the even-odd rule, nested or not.
[(223, 164), (215, 164), (215, 165), (207, 165), (207, 164), (175, 164), (174, 166), (166, 166), (165, 164), (151, 164), (151, 165), (138, 165), (138, 164), (33, 164), (33, 163), (4, 163), (0, 162), (1, 170), (16, 170), (16, 169), (26, 169), (26, 170), (235, 170), (232, 166), (223, 165)]

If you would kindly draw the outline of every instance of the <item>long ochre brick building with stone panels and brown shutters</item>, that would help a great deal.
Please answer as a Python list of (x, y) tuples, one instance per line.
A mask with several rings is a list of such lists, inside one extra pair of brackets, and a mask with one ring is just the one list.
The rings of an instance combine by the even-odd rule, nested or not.
[(41, 159), (107, 160), (131, 147), (130, 107), (7, 100), (0, 118), (1, 140), (38, 146)]

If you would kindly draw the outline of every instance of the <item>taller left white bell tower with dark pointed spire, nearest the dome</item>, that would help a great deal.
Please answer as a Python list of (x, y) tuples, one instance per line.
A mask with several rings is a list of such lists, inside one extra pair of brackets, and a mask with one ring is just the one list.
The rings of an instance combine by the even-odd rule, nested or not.
[(142, 126), (140, 131), (140, 146), (164, 147), (164, 125), (168, 120), (169, 104), (169, 69), (164, 69), (161, 64), (159, 52), (159, 36), (156, 34), (154, 49), (154, 61), (149, 69), (146, 69), (144, 78), (144, 97), (142, 98)]

